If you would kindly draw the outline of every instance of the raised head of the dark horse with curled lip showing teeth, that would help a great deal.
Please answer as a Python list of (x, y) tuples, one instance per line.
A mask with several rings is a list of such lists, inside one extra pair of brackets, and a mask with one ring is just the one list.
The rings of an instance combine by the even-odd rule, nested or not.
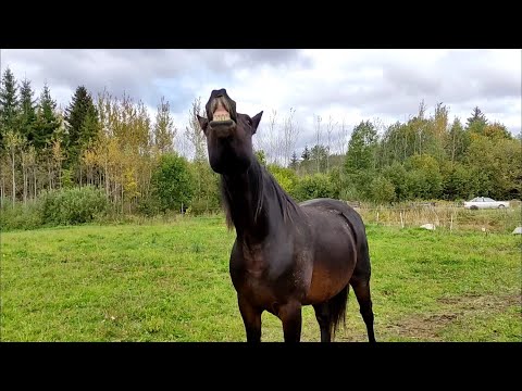
[(206, 106), (207, 118), (198, 115), (199, 125), (207, 137), (209, 163), (219, 174), (240, 174), (256, 159), (252, 136), (263, 112), (250, 117), (236, 112), (236, 102), (226, 90), (213, 90)]

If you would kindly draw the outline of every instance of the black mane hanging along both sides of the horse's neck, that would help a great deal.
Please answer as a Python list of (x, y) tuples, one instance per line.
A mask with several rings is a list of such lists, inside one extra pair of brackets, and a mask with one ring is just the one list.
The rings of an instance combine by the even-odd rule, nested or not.
[[(299, 205), (296, 201), (281, 187), (275, 180), (272, 174), (259, 163), (257, 159), (253, 159), (252, 164), (247, 171), (247, 175), (253, 180), (250, 182), (251, 192), (253, 195), (252, 203), (256, 205), (256, 212), (253, 214), (254, 222), (258, 219), (259, 214), (263, 209), (264, 195), (275, 198), (275, 202), (279, 206), (281, 214), (285, 222), (294, 220), (294, 217), (301, 213)], [(272, 190), (272, 191), (270, 191)], [(222, 207), (226, 216), (226, 225), (228, 229), (234, 228), (234, 222), (231, 212), (232, 194), (229, 189), (221, 177), (221, 193), (222, 193)]]

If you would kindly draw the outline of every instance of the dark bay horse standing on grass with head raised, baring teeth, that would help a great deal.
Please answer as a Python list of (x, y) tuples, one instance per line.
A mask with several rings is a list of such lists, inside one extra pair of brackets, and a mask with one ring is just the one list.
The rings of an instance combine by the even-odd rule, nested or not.
[(375, 342), (370, 297), (370, 256), (364, 224), (346, 203), (296, 203), (258, 162), (252, 150), (263, 112), (236, 112), (225, 89), (213, 90), (198, 115), (209, 163), (221, 175), (228, 227), (236, 229), (229, 273), (248, 342), (261, 341), (261, 314), (283, 324), (285, 341), (300, 341), (301, 307), (312, 305), (321, 341), (345, 321), (353, 288), (368, 339)]

